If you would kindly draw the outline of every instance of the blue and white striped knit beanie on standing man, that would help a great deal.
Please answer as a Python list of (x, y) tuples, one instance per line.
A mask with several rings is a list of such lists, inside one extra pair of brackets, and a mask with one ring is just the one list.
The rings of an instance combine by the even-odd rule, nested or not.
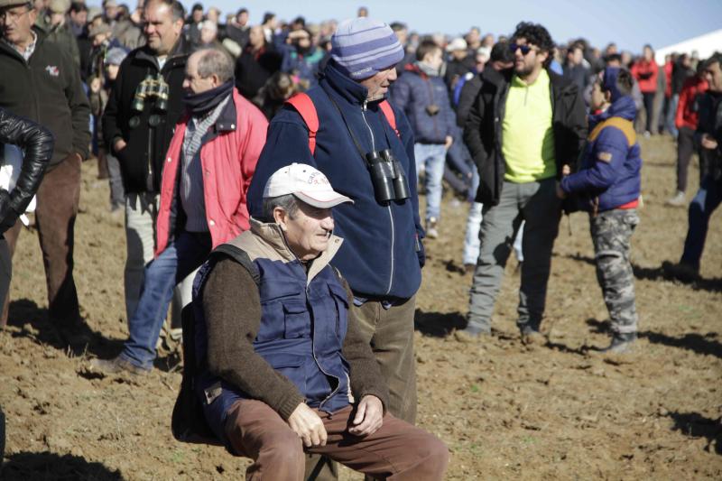
[(403, 60), (403, 47), (386, 23), (359, 17), (338, 25), (331, 57), (348, 77), (360, 80)]

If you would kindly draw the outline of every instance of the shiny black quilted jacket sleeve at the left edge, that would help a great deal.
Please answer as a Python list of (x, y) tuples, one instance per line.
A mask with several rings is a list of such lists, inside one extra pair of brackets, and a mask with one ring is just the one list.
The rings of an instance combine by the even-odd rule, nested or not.
[[(38, 190), (51, 160), (53, 137), (48, 129), (0, 108), (0, 147), (5, 143), (23, 148), (25, 156), (14, 190), (8, 193), (0, 189), (0, 232), (13, 227)], [(4, 149), (0, 149), (0, 165), (5, 162), (3, 153)]]

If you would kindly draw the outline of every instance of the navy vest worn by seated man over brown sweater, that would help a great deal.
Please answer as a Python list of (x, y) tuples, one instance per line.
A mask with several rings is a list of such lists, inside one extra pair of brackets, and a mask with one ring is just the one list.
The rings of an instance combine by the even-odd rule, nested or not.
[[(201, 267), (193, 286), (193, 298), (202, 288), (215, 259)], [(347, 331), (347, 291), (330, 265), (307, 286), (301, 262), (290, 263), (259, 258), (253, 261), (259, 274), (258, 290), (263, 318), (254, 340), (255, 352), (289, 378), (309, 406), (335, 412), (350, 402), (348, 364), (341, 356)], [(245, 393), (208, 374), (204, 361), (207, 334), (200, 302), (194, 302), (196, 318), (196, 359), (199, 375), (196, 393), (203, 402), (209, 426), (225, 439), (223, 423), (228, 409)], [(222, 389), (210, 399), (215, 385)], [(210, 402), (208, 402), (210, 401)]]

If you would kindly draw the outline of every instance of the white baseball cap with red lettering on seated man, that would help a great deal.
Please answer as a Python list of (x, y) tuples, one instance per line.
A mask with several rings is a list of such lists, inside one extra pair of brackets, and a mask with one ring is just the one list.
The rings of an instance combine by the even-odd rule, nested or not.
[(333, 190), (329, 179), (318, 169), (305, 163), (292, 163), (273, 172), (265, 183), (264, 199), (293, 194), (317, 208), (332, 208), (353, 200)]

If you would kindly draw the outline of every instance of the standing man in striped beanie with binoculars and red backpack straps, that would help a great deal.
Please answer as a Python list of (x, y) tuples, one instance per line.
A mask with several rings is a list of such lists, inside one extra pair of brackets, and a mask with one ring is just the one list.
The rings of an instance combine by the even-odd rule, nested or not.
[(353, 291), (350, 315), (358, 319), (389, 386), (384, 411), (413, 422), (413, 316), (423, 230), (412, 129), (403, 112), (386, 101), (403, 47), (386, 23), (369, 18), (340, 23), (331, 44), (319, 85), (293, 97), (273, 117), (248, 206), (252, 216), (262, 217), (266, 181), (292, 162), (315, 167), (354, 200), (334, 210), (334, 234), (345, 242), (331, 264)]

